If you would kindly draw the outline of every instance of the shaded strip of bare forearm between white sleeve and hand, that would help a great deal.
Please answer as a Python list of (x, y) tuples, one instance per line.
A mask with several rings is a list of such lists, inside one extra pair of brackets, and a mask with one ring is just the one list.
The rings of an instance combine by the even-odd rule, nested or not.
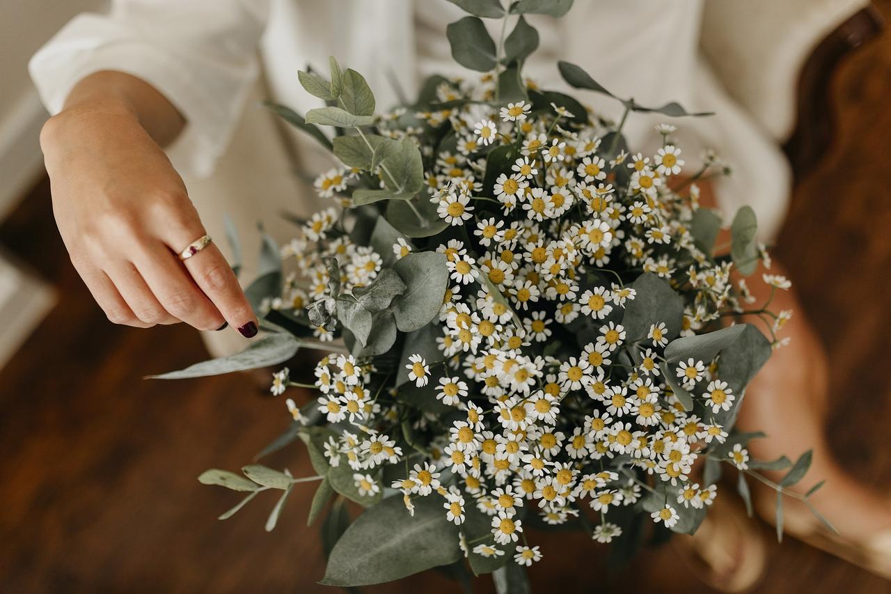
[(83, 78), (71, 89), (63, 111), (126, 110), (160, 146), (176, 140), (185, 119), (164, 95), (143, 81), (114, 70)]

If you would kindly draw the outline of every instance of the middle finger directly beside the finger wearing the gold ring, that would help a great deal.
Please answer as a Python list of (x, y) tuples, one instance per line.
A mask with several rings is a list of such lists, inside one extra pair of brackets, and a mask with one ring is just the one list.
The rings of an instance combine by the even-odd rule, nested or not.
[(192, 276), (163, 243), (145, 248), (135, 257), (136, 268), (164, 309), (199, 330), (217, 330), (225, 318)]

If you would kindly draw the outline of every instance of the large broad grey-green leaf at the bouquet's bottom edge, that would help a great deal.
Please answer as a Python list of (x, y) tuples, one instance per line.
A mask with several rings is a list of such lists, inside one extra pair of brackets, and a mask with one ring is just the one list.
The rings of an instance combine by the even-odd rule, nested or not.
[(401, 496), (366, 509), (331, 551), (321, 583), (364, 586), (448, 565), (461, 558), (458, 529), (446, 520), (443, 499), (414, 499), (409, 516)]

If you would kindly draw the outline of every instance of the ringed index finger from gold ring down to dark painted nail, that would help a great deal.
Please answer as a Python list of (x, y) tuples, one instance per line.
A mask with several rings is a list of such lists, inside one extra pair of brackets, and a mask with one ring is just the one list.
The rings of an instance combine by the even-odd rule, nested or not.
[(232, 267), (216, 245), (210, 243), (183, 263), (201, 291), (213, 301), (229, 324), (246, 338), (257, 334), (254, 310), (244, 296)]

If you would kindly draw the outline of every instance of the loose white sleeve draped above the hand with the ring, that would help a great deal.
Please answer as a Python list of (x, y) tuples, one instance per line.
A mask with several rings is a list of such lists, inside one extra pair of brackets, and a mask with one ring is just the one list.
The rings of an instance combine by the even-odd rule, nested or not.
[(31, 78), (51, 114), (99, 70), (143, 79), (187, 121), (171, 161), (207, 177), (257, 78), (267, 13), (268, 0), (114, 0), (107, 15), (79, 15), (37, 51)]

